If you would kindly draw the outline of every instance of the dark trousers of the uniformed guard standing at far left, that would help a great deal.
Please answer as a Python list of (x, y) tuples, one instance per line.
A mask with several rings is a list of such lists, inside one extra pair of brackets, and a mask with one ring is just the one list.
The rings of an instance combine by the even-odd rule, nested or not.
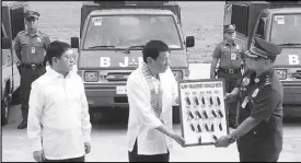
[(35, 81), (37, 78), (43, 75), (46, 72), (45, 67), (39, 67), (35, 70), (32, 69), (25, 69), (22, 68), (20, 70), (21, 72), (21, 110), (22, 110), (22, 118), (23, 120), (27, 121), (27, 116), (28, 116), (28, 100), (31, 95), (31, 90), (32, 90), (32, 83)]

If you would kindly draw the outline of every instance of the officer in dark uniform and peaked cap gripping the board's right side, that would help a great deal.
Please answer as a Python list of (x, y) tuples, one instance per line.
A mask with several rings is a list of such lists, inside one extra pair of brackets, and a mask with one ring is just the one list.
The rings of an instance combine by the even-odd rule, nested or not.
[(273, 69), (281, 49), (254, 38), (246, 55), (247, 72), (227, 98), (239, 97), (239, 127), (217, 140), (228, 147), (238, 140), (241, 162), (277, 162), (282, 150), (283, 89)]

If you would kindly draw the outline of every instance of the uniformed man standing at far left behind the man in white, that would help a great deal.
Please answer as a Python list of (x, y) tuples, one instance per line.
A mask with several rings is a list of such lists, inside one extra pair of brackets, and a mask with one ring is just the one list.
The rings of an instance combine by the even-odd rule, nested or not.
[(21, 75), (21, 110), (23, 117), (18, 129), (27, 127), (31, 84), (46, 71), (45, 54), (50, 44), (49, 37), (37, 31), (39, 13), (27, 10), (24, 14), (26, 30), (18, 33), (14, 44), (14, 50), (20, 60), (18, 68)]

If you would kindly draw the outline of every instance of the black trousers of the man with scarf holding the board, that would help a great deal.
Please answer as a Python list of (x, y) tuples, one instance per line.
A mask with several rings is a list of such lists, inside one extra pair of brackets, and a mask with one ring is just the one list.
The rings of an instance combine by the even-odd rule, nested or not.
[(129, 162), (170, 162), (170, 152), (155, 155), (140, 155), (138, 154), (137, 140), (134, 145), (134, 150), (128, 151)]

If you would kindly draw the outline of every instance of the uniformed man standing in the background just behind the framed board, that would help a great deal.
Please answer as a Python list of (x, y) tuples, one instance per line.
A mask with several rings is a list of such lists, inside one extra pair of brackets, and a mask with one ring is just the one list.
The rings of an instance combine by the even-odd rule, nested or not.
[[(224, 40), (217, 45), (211, 62), (210, 78), (215, 79), (216, 74), (218, 78), (223, 78), (225, 81), (225, 92), (230, 93), (236, 81), (242, 77), (241, 67), (243, 63), (243, 50), (234, 42), (235, 38), (235, 26), (224, 26)], [(217, 65), (219, 62), (219, 68)], [(216, 71), (217, 70), (217, 71)], [(229, 126), (236, 128), (236, 106), (238, 102), (229, 103)]]

